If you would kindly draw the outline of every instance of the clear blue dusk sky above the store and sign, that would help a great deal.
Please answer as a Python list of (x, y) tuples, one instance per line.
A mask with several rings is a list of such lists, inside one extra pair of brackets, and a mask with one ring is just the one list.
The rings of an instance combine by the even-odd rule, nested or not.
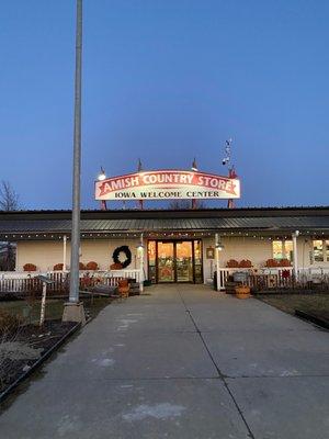
[[(70, 209), (76, 2), (0, 15), (0, 180)], [(325, 0), (84, 0), (82, 207), (101, 166), (226, 173), (229, 137), (237, 206), (328, 205), (328, 23)]]

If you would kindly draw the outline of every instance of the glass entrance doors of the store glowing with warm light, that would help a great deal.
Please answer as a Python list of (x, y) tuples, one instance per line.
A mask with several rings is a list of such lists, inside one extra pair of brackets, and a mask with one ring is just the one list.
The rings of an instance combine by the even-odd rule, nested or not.
[(148, 243), (149, 279), (154, 283), (202, 283), (202, 251), (198, 239)]

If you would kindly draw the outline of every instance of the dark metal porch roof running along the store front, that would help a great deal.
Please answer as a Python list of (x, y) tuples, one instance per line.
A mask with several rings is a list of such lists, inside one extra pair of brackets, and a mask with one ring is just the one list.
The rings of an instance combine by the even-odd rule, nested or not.
[[(0, 239), (71, 232), (70, 211), (0, 213)], [(211, 209), (175, 211), (82, 211), (81, 234), (161, 232), (260, 232), (329, 234), (329, 207)], [(42, 238), (41, 236), (41, 238)]]

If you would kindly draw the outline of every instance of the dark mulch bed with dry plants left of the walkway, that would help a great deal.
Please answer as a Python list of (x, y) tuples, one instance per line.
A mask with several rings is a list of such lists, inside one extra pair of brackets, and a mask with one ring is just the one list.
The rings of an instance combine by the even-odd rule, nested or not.
[(0, 351), (0, 399), (13, 383), (26, 375), (75, 327), (77, 324), (72, 322), (46, 320), (43, 328), (26, 325), (14, 340), (4, 340), (8, 356), (3, 352), (1, 356)]

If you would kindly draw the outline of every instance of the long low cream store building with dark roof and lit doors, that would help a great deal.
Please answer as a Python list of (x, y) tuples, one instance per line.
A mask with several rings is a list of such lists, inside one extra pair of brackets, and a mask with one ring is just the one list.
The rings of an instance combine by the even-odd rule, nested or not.
[[(26, 263), (68, 270), (70, 233), (70, 211), (0, 213), (0, 240), (16, 243), (18, 272)], [(80, 260), (102, 271), (120, 261), (154, 283), (207, 283), (232, 260), (265, 270), (271, 259), (296, 272), (328, 271), (329, 207), (81, 212)]]

